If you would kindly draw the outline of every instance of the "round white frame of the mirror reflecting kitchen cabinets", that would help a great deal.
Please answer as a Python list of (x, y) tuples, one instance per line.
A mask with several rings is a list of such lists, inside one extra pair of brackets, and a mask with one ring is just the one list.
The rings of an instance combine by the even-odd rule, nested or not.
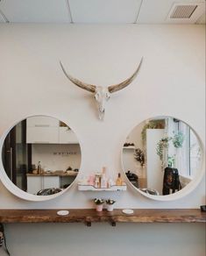
[[(43, 116), (43, 115), (39, 114), (39, 115), (30, 116), (30, 117), (39, 117), (39, 116)], [(47, 116), (47, 115), (44, 115), (44, 116), (45, 117), (51, 117), (51, 116)], [(28, 118), (28, 117), (25, 117), (25, 118)], [(3, 145), (4, 145), (4, 140), (6, 139), (6, 136), (8, 135), (8, 133), (11, 132), (11, 129), (15, 125), (17, 125), (19, 122), (25, 120), (25, 118), (23, 118), (21, 120), (18, 120), (18, 122), (16, 122), (15, 124), (12, 124), (11, 127), (8, 130), (6, 130), (0, 138), (0, 180), (3, 182), (4, 187), (7, 188), (14, 196), (18, 196), (19, 198), (25, 199), (26, 201), (41, 202), (41, 201), (51, 200), (53, 198), (56, 198), (57, 196), (60, 196), (60, 195), (64, 194), (65, 192), (67, 192), (67, 190), (75, 184), (75, 181), (78, 180), (78, 175), (79, 175), (80, 171), (76, 175), (75, 181), (73, 181), (70, 186), (68, 186), (67, 188), (65, 188), (61, 192), (50, 195), (50, 196), (36, 196), (36, 195), (29, 194), (29, 193), (25, 192), (24, 190), (18, 188), (10, 180), (10, 178), (8, 177), (6, 172), (4, 171), (4, 165), (3, 165), (3, 160), (2, 160), (2, 149), (3, 149)], [(56, 118), (56, 119), (59, 120), (58, 117), (53, 117), (53, 118)], [(67, 124), (67, 122), (64, 122), (64, 123)], [(71, 130), (73, 130), (72, 127), (70, 126), (70, 124), (69, 124), (69, 127), (71, 128)], [(78, 139), (78, 137), (77, 137), (77, 139)], [(80, 140), (78, 139), (78, 141), (80, 141)], [(80, 145), (80, 149), (81, 149), (81, 152), (82, 152), (82, 146), (81, 146), (80, 143), (79, 143), (79, 145)], [(82, 165), (82, 160), (81, 160), (81, 164), (80, 164), (80, 170), (81, 170), (81, 165)]]

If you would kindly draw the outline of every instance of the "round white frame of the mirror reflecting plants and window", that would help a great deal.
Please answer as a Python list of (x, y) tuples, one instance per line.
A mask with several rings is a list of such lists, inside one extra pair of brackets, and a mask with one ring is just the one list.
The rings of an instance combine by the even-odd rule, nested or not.
[[(171, 116), (157, 116), (157, 117), (161, 117), (161, 118), (166, 118), (166, 117), (171, 117)], [(145, 120), (143, 120), (142, 122), (146, 121), (146, 120), (150, 120), (153, 119), (154, 117), (149, 117)], [(179, 119), (179, 118), (177, 118)], [(181, 119), (179, 119), (181, 121)], [(142, 122), (140, 122), (139, 124), (141, 124)], [(185, 188), (182, 188), (180, 191), (175, 192), (174, 194), (170, 194), (167, 196), (153, 196), (150, 194), (147, 194), (143, 191), (141, 191), (139, 188), (136, 188), (135, 186), (133, 186), (131, 184), (131, 182), (129, 181), (129, 179), (127, 178), (125, 171), (124, 171), (124, 161), (123, 161), (123, 145), (124, 142), (126, 141), (127, 136), (131, 133), (131, 131), (133, 131), (133, 129), (138, 126), (139, 124), (136, 124), (135, 126), (133, 126), (130, 131), (127, 133), (126, 137), (124, 138), (124, 141), (122, 143), (122, 148), (121, 148), (121, 165), (122, 165), (122, 170), (123, 170), (123, 174), (124, 174), (124, 181), (126, 181), (126, 183), (128, 184), (128, 186), (130, 186), (131, 189), (138, 191), (141, 195), (146, 196), (147, 198), (156, 200), (156, 201), (174, 201), (174, 200), (178, 200), (181, 199), (181, 197), (183, 196), (187, 196), (189, 193), (191, 193), (197, 186), (198, 184), (202, 181), (202, 178), (205, 174), (205, 154), (204, 154), (204, 146), (202, 144), (202, 140), (200, 139), (200, 137), (198, 136), (198, 134), (195, 132), (195, 130), (186, 122), (181, 121), (185, 124), (187, 124), (195, 133), (196, 138), (199, 140), (200, 142), (200, 146), (201, 146), (201, 153), (202, 153), (202, 160), (201, 160), (201, 167), (197, 170), (197, 175), (195, 175), (195, 178), (190, 181), (188, 183), (188, 185)]]

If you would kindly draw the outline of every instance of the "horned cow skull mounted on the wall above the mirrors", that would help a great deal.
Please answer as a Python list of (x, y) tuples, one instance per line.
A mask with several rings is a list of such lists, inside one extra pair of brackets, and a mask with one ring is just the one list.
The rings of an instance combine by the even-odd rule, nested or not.
[(94, 94), (96, 103), (98, 106), (99, 119), (103, 120), (105, 103), (110, 99), (110, 94), (112, 94), (113, 92), (116, 92), (120, 89), (124, 89), (124, 87), (129, 85), (134, 80), (136, 75), (138, 75), (139, 68), (141, 67), (141, 64), (142, 64), (142, 60), (143, 60), (143, 58), (140, 60), (139, 67), (136, 69), (136, 71), (129, 78), (124, 80), (124, 82), (120, 82), (115, 85), (110, 85), (108, 87), (96, 86), (96, 85), (89, 84), (86, 82), (81, 82), (78, 79), (75, 79), (73, 76), (67, 75), (67, 72), (66, 72), (65, 68), (63, 67), (63, 65), (61, 64), (61, 62), (60, 62), (60, 67), (62, 68), (64, 75), (67, 76), (68, 80), (75, 83), (75, 85), (77, 85), (78, 87), (80, 87), (82, 89), (86, 89), (89, 92)]

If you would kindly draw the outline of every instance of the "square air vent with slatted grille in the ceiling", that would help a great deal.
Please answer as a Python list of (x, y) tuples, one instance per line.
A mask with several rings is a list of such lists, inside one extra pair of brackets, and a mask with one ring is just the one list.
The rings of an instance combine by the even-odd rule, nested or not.
[(193, 24), (205, 11), (205, 2), (198, 3), (176, 3), (167, 16), (169, 23)]

